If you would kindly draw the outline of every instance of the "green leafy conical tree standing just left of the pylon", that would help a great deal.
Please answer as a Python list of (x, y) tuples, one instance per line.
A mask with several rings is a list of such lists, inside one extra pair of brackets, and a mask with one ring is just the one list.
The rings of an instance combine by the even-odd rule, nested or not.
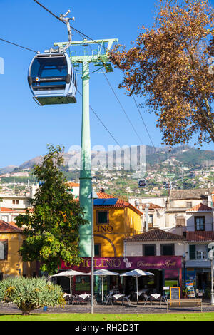
[(83, 209), (73, 195), (67, 192), (66, 177), (60, 168), (62, 149), (47, 146), (49, 152), (41, 165), (36, 165), (34, 175), (41, 181), (31, 206), (25, 215), (16, 217), (19, 227), (24, 227), (24, 242), (19, 250), (24, 261), (39, 261), (41, 270), (54, 274), (61, 261), (79, 265), (78, 228), (88, 223)]

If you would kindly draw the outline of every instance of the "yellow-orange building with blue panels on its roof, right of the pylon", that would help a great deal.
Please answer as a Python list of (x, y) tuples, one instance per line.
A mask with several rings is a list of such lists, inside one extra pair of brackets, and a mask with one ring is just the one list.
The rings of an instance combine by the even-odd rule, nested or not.
[(93, 210), (95, 256), (121, 257), (123, 240), (143, 231), (143, 213), (116, 196), (101, 191), (97, 195)]

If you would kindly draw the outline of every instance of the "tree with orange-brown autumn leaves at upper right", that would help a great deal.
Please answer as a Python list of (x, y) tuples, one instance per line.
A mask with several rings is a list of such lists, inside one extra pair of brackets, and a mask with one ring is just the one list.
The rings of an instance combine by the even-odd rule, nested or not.
[(141, 106), (156, 113), (166, 145), (186, 144), (194, 135), (200, 145), (214, 141), (213, 23), (208, 0), (159, 0), (152, 28), (142, 26), (131, 49), (117, 45), (111, 52), (124, 75), (119, 88), (145, 97)]

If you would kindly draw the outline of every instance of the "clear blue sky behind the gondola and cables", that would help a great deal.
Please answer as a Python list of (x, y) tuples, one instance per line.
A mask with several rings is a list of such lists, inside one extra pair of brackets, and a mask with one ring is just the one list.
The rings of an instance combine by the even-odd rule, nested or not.
[[(151, 26), (155, 11), (154, 2), (147, 0), (40, 2), (56, 15), (71, 9), (71, 15), (76, 19), (73, 26), (87, 36), (93, 39), (118, 38), (118, 42), (127, 47), (138, 36), (141, 25)], [(50, 48), (54, 41), (67, 41), (66, 26), (33, 0), (1, 0), (0, 27), (0, 38), (36, 51)], [(80, 39), (73, 32), (73, 40)], [(4, 75), (0, 75), (0, 168), (20, 165), (37, 155), (44, 155), (47, 143), (64, 145), (66, 151), (71, 145), (80, 145), (81, 97), (77, 95), (76, 105), (36, 105), (27, 83), (27, 71), (33, 56), (34, 53), (30, 51), (0, 41), (0, 57), (4, 58)], [(122, 73), (114, 69), (107, 76), (143, 143), (138, 140), (101, 73), (91, 75), (91, 107), (121, 145), (151, 145), (133, 99), (128, 98), (125, 91), (118, 89)], [(78, 83), (81, 88), (79, 75)], [(141, 102), (140, 99), (137, 101)], [(161, 146), (161, 131), (156, 128), (156, 116), (146, 113), (146, 110), (141, 110), (141, 113), (154, 145)], [(108, 145), (115, 144), (91, 113), (91, 146), (103, 145), (107, 148)], [(203, 149), (214, 150), (214, 144), (203, 145)]]

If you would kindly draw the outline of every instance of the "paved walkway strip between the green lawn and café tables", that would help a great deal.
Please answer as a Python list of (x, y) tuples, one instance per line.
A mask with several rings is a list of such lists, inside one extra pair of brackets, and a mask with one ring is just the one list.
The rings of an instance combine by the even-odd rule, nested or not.
[[(210, 306), (210, 303), (203, 303), (203, 311), (213, 311), (214, 306)], [(36, 309), (32, 311), (32, 313), (40, 313), (40, 314), (56, 314), (56, 313), (90, 313), (91, 306), (90, 305), (66, 305), (64, 307), (49, 307), (47, 311), (44, 311), (42, 308)], [(170, 309), (170, 313), (193, 313), (200, 312), (200, 308), (198, 307), (185, 307), (185, 308), (173, 308)], [(133, 303), (132, 306), (121, 306), (121, 304), (116, 305), (99, 305), (96, 304), (94, 306), (94, 313), (103, 313), (103, 314), (153, 314), (153, 313), (167, 313), (166, 305), (162, 304), (147, 304), (143, 306), (143, 304)], [(0, 314), (21, 314), (21, 310), (17, 309), (14, 304), (5, 304), (0, 303)]]

